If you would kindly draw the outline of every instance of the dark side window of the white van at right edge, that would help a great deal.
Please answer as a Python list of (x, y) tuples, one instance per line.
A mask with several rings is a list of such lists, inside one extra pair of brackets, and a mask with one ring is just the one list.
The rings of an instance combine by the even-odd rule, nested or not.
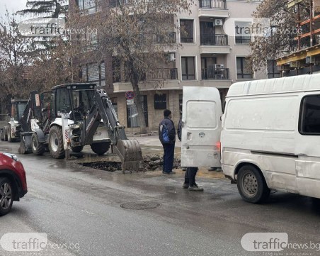
[(320, 135), (320, 95), (305, 96), (302, 99), (299, 120), (299, 133)]

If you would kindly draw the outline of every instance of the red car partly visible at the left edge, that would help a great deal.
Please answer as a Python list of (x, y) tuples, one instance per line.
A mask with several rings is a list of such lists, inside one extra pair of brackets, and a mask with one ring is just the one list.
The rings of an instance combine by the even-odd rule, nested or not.
[(27, 193), (25, 169), (16, 155), (0, 152), (0, 216)]

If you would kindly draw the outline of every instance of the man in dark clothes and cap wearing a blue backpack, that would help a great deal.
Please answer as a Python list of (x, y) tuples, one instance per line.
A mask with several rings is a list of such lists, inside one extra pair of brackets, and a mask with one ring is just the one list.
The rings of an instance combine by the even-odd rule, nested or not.
[(159, 123), (159, 140), (164, 147), (164, 167), (162, 173), (176, 174), (172, 171), (174, 159), (174, 147), (176, 144), (176, 128), (171, 120), (171, 111), (164, 110), (164, 119)]

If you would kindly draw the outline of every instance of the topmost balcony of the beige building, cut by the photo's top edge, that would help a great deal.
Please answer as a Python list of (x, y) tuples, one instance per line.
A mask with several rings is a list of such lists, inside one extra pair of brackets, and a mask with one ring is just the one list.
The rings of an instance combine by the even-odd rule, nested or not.
[(198, 16), (228, 18), (227, 0), (199, 0)]

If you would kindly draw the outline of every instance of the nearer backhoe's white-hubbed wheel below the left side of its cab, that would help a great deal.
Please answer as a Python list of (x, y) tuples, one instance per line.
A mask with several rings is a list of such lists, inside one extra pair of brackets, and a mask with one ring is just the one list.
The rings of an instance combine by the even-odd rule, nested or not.
[(49, 150), (53, 158), (63, 158), (64, 145), (62, 137), (62, 128), (59, 126), (52, 126), (49, 132)]

